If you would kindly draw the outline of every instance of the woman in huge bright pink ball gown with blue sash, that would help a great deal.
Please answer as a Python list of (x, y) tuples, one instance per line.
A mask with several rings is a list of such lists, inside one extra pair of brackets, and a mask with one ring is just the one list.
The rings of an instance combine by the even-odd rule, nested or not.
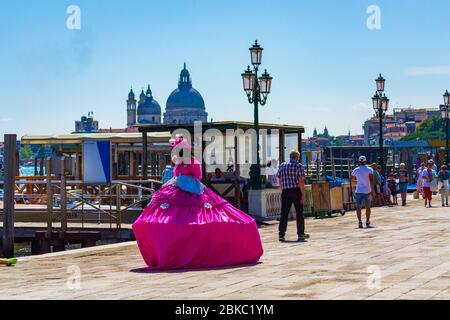
[(263, 248), (255, 220), (200, 182), (201, 164), (190, 155), (186, 139), (170, 143), (189, 156), (173, 158), (174, 178), (133, 224), (145, 263), (170, 270), (258, 262)]

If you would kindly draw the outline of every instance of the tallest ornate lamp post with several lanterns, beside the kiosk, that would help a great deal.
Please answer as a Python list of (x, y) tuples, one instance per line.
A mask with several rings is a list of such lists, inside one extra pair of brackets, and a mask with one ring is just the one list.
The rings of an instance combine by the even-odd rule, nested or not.
[(255, 41), (250, 48), (250, 58), (252, 68), (247, 67), (247, 70), (242, 74), (244, 91), (247, 94), (248, 102), (254, 107), (254, 126), (256, 131), (256, 164), (250, 167), (250, 184), (252, 189), (259, 190), (262, 187), (261, 180), (261, 159), (259, 156), (259, 106), (266, 104), (267, 96), (270, 93), (272, 85), (272, 77), (267, 73), (267, 70), (258, 78), (259, 66), (261, 65), (261, 58), (263, 48)]

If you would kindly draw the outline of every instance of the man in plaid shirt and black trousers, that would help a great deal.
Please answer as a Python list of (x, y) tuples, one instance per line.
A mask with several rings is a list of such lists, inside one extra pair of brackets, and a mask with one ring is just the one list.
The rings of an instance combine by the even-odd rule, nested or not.
[(279, 239), (285, 241), (289, 211), (294, 204), (297, 218), (298, 241), (305, 241), (309, 235), (305, 233), (305, 219), (303, 217), (303, 204), (305, 194), (305, 172), (300, 160), (300, 153), (292, 151), (290, 160), (278, 168), (277, 178), (281, 185), (281, 219), (279, 226)]

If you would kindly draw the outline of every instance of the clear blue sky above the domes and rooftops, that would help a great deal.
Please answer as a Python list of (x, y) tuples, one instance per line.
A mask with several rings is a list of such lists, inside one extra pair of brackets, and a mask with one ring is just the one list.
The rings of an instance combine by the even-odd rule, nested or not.
[[(69, 5), (81, 30), (66, 28)], [(368, 6), (381, 9), (369, 30)], [(16, 0), (0, 3), (0, 136), (67, 133), (89, 111), (126, 125), (151, 84), (165, 106), (183, 62), (214, 120), (253, 117), (240, 74), (264, 47), (274, 77), (261, 121), (362, 132), (378, 73), (391, 107), (437, 107), (450, 89), (450, 1)]]

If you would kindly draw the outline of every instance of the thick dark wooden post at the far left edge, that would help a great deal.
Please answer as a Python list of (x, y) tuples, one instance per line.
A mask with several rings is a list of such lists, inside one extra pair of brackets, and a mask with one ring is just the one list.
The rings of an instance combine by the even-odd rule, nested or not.
[(3, 256), (14, 257), (14, 193), (16, 180), (15, 134), (5, 135), (5, 180), (3, 196)]

